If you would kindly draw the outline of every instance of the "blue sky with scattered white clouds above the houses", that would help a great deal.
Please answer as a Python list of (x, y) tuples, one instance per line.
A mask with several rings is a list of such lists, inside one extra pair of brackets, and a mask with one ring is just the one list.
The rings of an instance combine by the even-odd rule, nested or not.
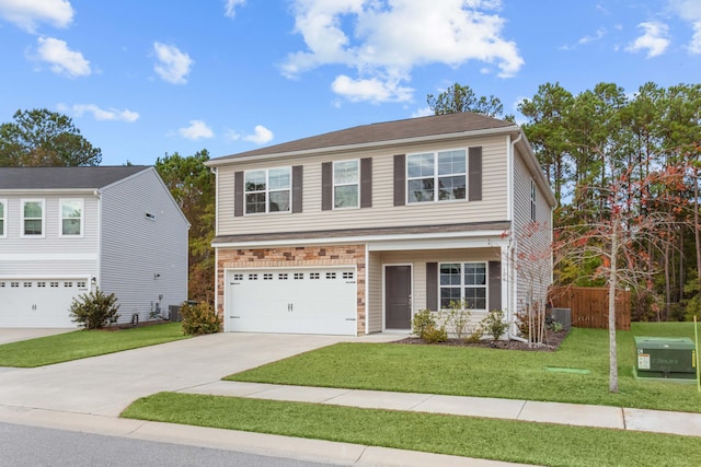
[(70, 116), (102, 165), (212, 157), (559, 82), (698, 83), (700, 0), (0, 0), (0, 121)]

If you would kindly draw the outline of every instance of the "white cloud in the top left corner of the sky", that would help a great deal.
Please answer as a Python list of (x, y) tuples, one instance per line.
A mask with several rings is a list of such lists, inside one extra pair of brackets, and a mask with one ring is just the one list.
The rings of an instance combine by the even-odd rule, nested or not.
[(68, 27), (73, 8), (67, 0), (0, 0), (0, 17), (34, 33), (39, 23)]

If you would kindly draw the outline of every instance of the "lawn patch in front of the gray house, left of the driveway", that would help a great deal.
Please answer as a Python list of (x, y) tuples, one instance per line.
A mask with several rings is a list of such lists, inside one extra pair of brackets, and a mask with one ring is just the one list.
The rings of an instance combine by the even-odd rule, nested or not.
[(77, 330), (0, 346), (0, 366), (35, 367), (185, 339), (181, 323), (120, 330)]

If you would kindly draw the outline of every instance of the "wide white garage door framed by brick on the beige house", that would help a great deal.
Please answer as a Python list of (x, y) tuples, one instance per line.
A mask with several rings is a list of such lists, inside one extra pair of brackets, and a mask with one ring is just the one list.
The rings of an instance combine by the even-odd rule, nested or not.
[(225, 329), (356, 335), (355, 268), (227, 271)]

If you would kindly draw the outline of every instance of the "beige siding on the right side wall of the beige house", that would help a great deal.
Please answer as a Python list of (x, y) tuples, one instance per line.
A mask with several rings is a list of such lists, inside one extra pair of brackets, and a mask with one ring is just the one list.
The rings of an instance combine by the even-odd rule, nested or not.
[[(531, 174), (526, 168), (521, 154), (514, 156), (514, 242), (517, 273), (516, 312), (526, 308), (529, 302), (544, 305), (551, 283), (551, 207), (542, 190), (536, 185), (536, 222), (539, 226), (533, 235), (525, 234), (531, 223)], [(527, 255), (520, 257), (519, 255)]]

